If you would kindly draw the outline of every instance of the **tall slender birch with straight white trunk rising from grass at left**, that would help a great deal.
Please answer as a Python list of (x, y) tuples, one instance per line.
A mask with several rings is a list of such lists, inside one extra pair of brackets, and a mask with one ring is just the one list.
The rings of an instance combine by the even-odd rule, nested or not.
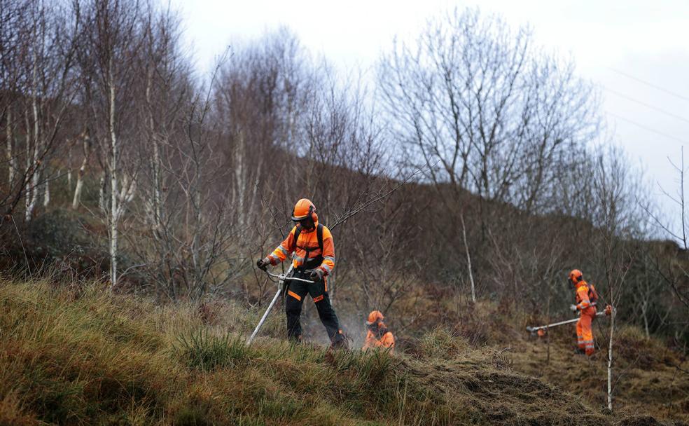
[(109, 276), (114, 289), (118, 285), (120, 220), (134, 197), (139, 172), (139, 159), (131, 151), (131, 120), (134, 62), (143, 39), (141, 6), (135, 0), (93, 0), (76, 6), (84, 10), (80, 65), (89, 128), (103, 173), (100, 207), (108, 230)]

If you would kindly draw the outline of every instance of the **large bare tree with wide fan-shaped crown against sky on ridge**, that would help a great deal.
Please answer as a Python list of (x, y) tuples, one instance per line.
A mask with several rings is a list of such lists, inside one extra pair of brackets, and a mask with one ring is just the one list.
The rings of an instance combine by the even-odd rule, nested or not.
[(562, 154), (597, 128), (597, 109), (571, 64), (536, 55), (528, 29), (507, 28), (456, 10), (385, 56), (379, 82), (406, 158), (431, 181), (530, 212)]

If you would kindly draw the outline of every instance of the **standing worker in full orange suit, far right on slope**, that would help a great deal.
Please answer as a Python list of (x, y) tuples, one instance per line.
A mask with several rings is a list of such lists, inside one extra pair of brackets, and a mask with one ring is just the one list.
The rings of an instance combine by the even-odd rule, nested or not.
[(572, 270), (569, 273), (569, 282), (576, 291), (576, 305), (570, 305), (569, 308), (574, 312), (579, 311), (579, 320), (576, 323), (579, 351), (591, 356), (595, 350), (591, 324), (596, 317), (598, 293), (593, 284), (588, 284), (584, 281), (583, 274), (578, 269)]

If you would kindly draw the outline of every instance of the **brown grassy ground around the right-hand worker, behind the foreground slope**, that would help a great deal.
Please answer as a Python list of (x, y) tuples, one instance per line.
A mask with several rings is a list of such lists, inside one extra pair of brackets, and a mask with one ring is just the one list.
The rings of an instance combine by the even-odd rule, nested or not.
[[(503, 353), (514, 371), (541, 378), (547, 383), (577, 395), (595, 411), (607, 411), (607, 320), (594, 322), (597, 353), (576, 355), (573, 325), (550, 330), (550, 361), (545, 338), (531, 337), (527, 324), (544, 324), (544, 318), (519, 317), (501, 313), (491, 303), (479, 303), (471, 312), (466, 329), (455, 334), (483, 336), (494, 348), (509, 348)], [(636, 327), (622, 326), (615, 331), (613, 347), (615, 418), (626, 424), (647, 424), (647, 416), (668, 422), (689, 422), (689, 362), (669, 350), (656, 338), (646, 338)], [(644, 417), (646, 416), (646, 417)], [(644, 420), (646, 419), (646, 420)], [(655, 420), (654, 420), (655, 421)]]

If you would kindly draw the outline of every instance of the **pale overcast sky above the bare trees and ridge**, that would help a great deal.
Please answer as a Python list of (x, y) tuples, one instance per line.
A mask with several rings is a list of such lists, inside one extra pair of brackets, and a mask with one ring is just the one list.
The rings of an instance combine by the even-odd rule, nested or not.
[[(603, 90), (615, 139), (650, 181), (674, 191), (667, 157), (689, 151), (689, 1), (267, 1), (172, 0), (199, 69), (232, 40), (286, 25), (312, 53), (340, 67), (370, 69), (394, 36), (411, 39), (427, 19), (480, 6), (511, 26), (531, 25), (537, 43), (571, 55)], [(689, 153), (687, 158), (689, 164)], [(654, 185), (654, 195), (661, 200)], [(665, 214), (674, 208), (662, 202)]]

